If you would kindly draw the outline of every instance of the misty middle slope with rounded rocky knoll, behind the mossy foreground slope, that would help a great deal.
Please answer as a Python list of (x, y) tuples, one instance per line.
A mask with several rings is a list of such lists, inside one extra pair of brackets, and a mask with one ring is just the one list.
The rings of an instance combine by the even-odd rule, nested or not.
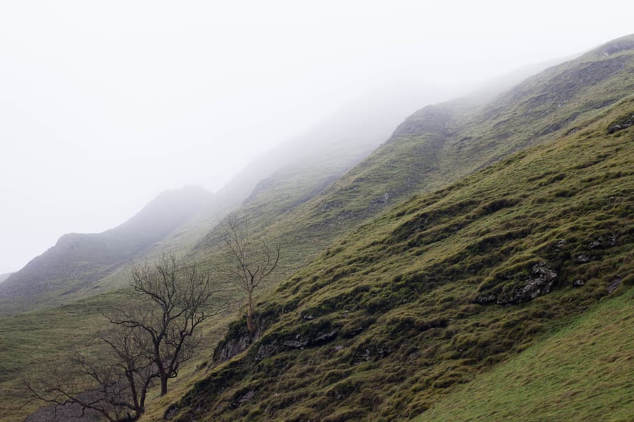
[[(550, 67), (493, 99), (485, 95), (426, 106), (311, 200), (288, 209), (278, 206), (279, 195), (265, 197), (253, 211), (238, 213), (252, 220), (254, 236), (284, 244), (281, 280), (341, 234), (413, 193), (440, 188), (519, 149), (573, 131), (575, 122), (631, 92), (634, 35)], [(198, 256), (209, 257), (220, 235), (217, 229), (210, 232), (196, 247)]]

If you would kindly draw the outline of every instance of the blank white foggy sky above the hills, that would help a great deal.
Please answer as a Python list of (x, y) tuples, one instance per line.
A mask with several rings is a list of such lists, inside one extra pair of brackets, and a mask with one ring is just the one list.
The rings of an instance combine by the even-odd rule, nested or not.
[(516, 3), (1, 1), (0, 273), (385, 81), (461, 92), (634, 32), (631, 1)]

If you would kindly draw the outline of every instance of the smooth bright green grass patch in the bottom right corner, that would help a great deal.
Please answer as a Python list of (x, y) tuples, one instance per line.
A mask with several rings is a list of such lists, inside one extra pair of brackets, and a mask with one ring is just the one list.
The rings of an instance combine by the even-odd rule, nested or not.
[(628, 289), (456, 388), (417, 421), (631, 421), (633, 387), (634, 289)]

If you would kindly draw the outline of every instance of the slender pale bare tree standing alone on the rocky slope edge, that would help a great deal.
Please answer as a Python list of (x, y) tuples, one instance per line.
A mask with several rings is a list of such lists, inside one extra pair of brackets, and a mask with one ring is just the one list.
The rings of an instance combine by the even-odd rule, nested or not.
[(265, 241), (252, 243), (249, 239), (247, 218), (241, 223), (236, 216), (229, 216), (224, 227), (224, 260), (219, 273), (245, 292), (247, 296), (247, 329), (253, 335), (255, 327), (254, 291), (263, 279), (277, 268), (280, 244), (270, 247)]

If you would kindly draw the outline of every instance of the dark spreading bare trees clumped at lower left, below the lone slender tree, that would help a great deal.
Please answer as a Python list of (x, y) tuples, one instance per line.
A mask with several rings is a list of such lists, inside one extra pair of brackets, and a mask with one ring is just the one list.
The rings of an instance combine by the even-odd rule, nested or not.
[[(148, 389), (176, 378), (201, 339), (196, 330), (219, 313), (222, 304), (208, 273), (196, 264), (162, 254), (153, 264), (132, 265), (129, 301), (102, 313), (110, 329), (95, 336), (91, 353), (77, 352), (62, 366), (51, 366), (37, 379), (26, 379), (31, 400), (78, 408), (82, 417), (98, 414), (111, 422), (137, 421), (145, 412)], [(77, 412), (76, 412), (77, 413)]]

